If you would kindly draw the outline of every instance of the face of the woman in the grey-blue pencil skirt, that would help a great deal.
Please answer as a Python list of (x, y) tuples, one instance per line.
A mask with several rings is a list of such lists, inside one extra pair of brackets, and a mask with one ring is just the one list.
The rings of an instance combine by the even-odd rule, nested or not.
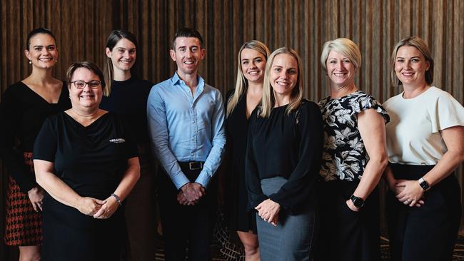
[(276, 96), (291, 98), (293, 88), (298, 81), (298, 62), (288, 53), (274, 57), (269, 80)]

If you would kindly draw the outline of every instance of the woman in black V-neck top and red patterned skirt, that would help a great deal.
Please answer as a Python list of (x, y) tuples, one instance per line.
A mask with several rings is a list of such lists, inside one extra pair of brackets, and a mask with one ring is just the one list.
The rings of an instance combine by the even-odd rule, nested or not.
[(19, 246), (20, 260), (39, 260), (44, 193), (34, 177), (32, 149), (45, 118), (71, 103), (64, 82), (52, 76), (58, 48), (51, 31), (31, 31), (24, 53), (32, 73), (9, 86), (1, 101), (1, 156), (9, 173), (4, 241)]

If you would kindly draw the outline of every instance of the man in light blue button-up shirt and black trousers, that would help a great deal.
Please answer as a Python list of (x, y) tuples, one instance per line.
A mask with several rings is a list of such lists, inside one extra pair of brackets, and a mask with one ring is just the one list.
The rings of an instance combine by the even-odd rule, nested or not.
[(210, 260), (214, 173), (226, 145), (221, 93), (198, 76), (205, 56), (195, 29), (179, 29), (169, 54), (172, 78), (151, 88), (148, 128), (160, 165), (159, 206), (166, 260)]

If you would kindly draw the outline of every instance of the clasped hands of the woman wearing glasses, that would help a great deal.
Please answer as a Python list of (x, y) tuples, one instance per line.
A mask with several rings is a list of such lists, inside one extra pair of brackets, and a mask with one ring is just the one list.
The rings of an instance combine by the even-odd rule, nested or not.
[(79, 200), (77, 209), (84, 215), (90, 215), (98, 219), (111, 218), (118, 209), (118, 202), (113, 196), (109, 196), (106, 200), (98, 200), (96, 198), (84, 197)]

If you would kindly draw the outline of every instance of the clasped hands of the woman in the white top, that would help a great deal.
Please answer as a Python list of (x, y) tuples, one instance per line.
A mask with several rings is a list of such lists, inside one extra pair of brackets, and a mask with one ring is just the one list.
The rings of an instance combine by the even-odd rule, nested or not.
[(388, 187), (404, 205), (420, 208), (425, 203), (424, 190), (417, 180), (395, 180), (395, 183), (388, 184)]

